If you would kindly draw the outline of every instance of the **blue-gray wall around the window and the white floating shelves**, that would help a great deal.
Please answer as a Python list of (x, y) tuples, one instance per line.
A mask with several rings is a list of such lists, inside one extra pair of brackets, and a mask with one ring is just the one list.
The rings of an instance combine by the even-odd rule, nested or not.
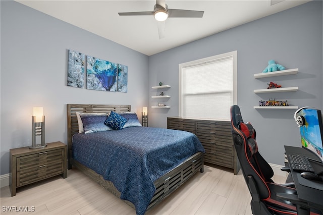
[[(149, 106), (156, 105), (151, 86), (159, 81), (171, 85), (165, 103), (171, 109), (149, 109), (149, 125), (166, 127), (167, 117), (178, 116), (178, 65), (238, 50), (238, 105), (245, 121), (257, 131), (259, 151), (269, 163), (284, 164), (284, 145), (300, 146), (293, 116), (295, 110), (255, 110), (259, 100), (287, 99), (290, 105), (314, 106), (322, 110), (322, 2), (304, 5), (268, 16), (207, 38), (149, 57)], [(268, 60), (274, 59), (296, 75), (254, 79)], [(253, 93), (273, 81), (283, 87), (298, 86), (296, 92)], [(216, 84), (216, 83), (214, 83)], [(229, 111), (229, 109), (228, 109)]]

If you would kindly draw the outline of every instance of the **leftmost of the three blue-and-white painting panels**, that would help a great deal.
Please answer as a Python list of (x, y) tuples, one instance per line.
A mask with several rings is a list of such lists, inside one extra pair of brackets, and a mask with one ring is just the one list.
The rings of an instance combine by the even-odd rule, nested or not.
[(74, 50), (69, 50), (67, 86), (84, 88), (84, 65), (85, 55)]

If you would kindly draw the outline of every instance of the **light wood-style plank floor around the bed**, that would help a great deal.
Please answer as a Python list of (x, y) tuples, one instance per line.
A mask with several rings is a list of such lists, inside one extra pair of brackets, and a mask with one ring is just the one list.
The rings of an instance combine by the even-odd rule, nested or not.
[[(274, 176), (276, 183), (286, 178)], [(11, 197), (9, 186), (1, 188), (1, 214), (136, 214), (135, 210), (100, 187), (77, 169), (66, 179), (53, 177), (17, 189)], [(241, 171), (204, 166), (163, 202), (146, 212), (152, 214), (252, 214), (251, 196)], [(10, 206), (29, 212), (6, 211)], [(34, 210), (34, 211), (32, 211)]]

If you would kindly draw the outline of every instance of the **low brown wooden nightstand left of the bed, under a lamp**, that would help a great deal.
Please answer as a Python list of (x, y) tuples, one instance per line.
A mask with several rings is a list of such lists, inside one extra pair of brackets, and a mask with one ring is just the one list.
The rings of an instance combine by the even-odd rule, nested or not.
[(10, 149), (11, 196), (22, 187), (43, 179), (61, 175), (67, 177), (67, 145), (47, 143), (45, 148), (29, 146)]

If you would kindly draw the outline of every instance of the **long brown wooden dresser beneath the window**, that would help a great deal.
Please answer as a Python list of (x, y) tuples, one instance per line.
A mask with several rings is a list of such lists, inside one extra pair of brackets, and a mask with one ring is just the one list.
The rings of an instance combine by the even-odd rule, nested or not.
[(233, 169), (235, 175), (240, 163), (234, 150), (230, 121), (168, 117), (167, 128), (195, 134), (204, 149), (204, 162)]

